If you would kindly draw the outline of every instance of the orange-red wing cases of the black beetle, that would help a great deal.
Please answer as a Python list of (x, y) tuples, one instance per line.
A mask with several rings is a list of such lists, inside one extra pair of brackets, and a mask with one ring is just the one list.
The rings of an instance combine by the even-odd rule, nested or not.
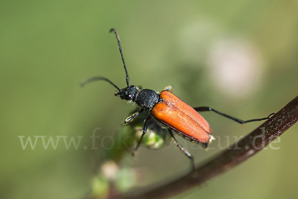
[(209, 142), (211, 128), (196, 110), (167, 90), (160, 92), (160, 99), (151, 110), (156, 120), (196, 141)]

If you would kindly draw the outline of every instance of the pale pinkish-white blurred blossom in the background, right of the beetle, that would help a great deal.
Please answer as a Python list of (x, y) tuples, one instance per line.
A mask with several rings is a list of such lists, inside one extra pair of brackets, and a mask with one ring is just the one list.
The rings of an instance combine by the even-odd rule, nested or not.
[(227, 96), (245, 97), (260, 86), (263, 62), (249, 42), (219, 41), (210, 49), (208, 62), (214, 83)]

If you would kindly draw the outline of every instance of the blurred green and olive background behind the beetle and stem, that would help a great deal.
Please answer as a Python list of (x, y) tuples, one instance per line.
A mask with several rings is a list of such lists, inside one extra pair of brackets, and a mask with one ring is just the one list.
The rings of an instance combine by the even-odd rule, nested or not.
[[(89, 193), (107, 150), (84, 150), (89, 136), (117, 133), (135, 106), (115, 89), (79, 82), (103, 75), (125, 87), (114, 35), (117, 28), (131, 84), (173, 93), (192, 106), (211, 106), (241, 119), (265, 117), (297, 96), (296, 0), (10, 0), (0, 1), (0, 196), (5, 199), (80, 199)], [(214, 149), (178, 137), (203, 163), (225, 146), (224, 136), (245, 135), (259, 123), (240, 125), (213, 113), (203, 116)], [(297, 198), (294, 126), (240, 166), (175, 198)], [(19, 135), (83, 136), (77, 150), (22, 150)], [(222, 138), (220, 138), (220, 137)], [(110, 142), (109, 139), (104, 140)], [(100, 146), (101, 140), (97, 140)], [(107, 146), (109, 143), (106, 143)], [(189, 170), (173, 143), (141, 147), (122, 166), (139, 170), (137, 187)]]

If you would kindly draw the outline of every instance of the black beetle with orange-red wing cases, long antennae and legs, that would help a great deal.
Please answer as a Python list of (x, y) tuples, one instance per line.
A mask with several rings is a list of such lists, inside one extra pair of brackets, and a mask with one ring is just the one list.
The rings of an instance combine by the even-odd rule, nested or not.
[(96, 80), (107, 81), (117, 89), (117, 91), (115, 92), (115, 96), (120, 97), (123, 100), (136, 103), (139, 106), (140, 110), (129, 116), (124, 121), (124, 124), (132, 122), (133, 119), (136, 118), (143, 111), (149, 112), (149, 116), (144, 120), (143, 123), (143, 133), (137, 143), (137, 146), (133, 151), (133, 154), (139, 148), (144, 134), (147, 132), (148, 121), (150, 119), (154, 119), (155, 122), (157, 122), (157, 124), (160, 125), (161, 128), (167, 129), (177, 147), (182, 151), (182, 153), (184, 153), (188, 158), (190, 158), (192, 169), (194, 169), (194, 157), (190, 154), (190, 152), (187, 149), (185, 149), (177, 141), (177, 139), (173, 135), (173, 131), (176, 131), (176, 133), (181, 134), (184, 138), (192, 142), (203, 143), (203, 146), (206, 148), (208, 143), (211, 143), (215, 138), (211, 135), (212, 131), (210, 125), (198, 112), (213, 111), (240, 124), (267, 120), (271, 115), (274, 114), (272, 113), (266, 118), (251, 119), (244, 121), (233, 116), (224, 114), (211, 107), (204, 106), (193, 108), (185, 102), (183, 102), (181, 99), (179, 99), (176, 95), (174, 95), (171, 92), (173, 88), (172, 86), (167, 86), (164, 90), (158, 93), (152, 89), (143, 89), (134, 85), (130, 85), (129, 75), (124, 61), (119, 35), (115, 28), (112, 28), (110, 32), (113, 32), (115, 34), (118, 42), (121, 59), (126, 73), (127, 87), (120, 89), (111, 80), (102, 76), (90, 77), (83, 81), (81, 83), (81, 86)]

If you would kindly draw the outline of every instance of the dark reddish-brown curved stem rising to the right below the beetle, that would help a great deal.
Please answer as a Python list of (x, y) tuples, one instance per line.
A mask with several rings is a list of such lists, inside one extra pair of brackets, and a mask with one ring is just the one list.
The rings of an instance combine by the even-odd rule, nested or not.
[(231, 169), (267, 146), (272, 140), (292, 127), (298, 120), (298, 96), (278, 113), (246, 135), (236, 145), (196, 169), (197, 174), (186, 174), (168, 184), (143, 192), (132, 192), (118, 199), (164, 199), (175, 196)]

